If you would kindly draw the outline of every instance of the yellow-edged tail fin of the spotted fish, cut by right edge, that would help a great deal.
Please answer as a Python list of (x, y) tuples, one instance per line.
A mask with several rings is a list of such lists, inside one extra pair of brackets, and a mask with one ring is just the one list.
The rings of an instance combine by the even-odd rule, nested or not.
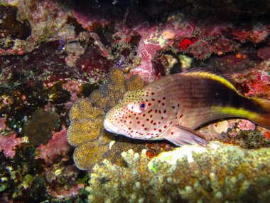
[(248, 98), (252, 101), (252, 113), (247, 116), (247, 119), (254, 123), (262, 125), (270, 129), (270, 100), (262, 98)]

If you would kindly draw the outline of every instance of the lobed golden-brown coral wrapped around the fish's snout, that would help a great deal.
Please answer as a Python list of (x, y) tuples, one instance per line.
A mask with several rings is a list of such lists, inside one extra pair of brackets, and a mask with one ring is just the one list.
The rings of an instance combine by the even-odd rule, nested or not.
[(123, 98), (126, 91), (142, 88), (143, 80), (139, 76), (125, 80), (119, 68), (112, 68), (107, 80), (105, 85), (91, 93), (89, 99), (77, 101), (70, 109), (68, 142), (76, 147), (73, 159), (80, 170), (90, 170), (104, 159), (121, 164), (121, 152), (146, 148), (128, 138), (115, 137), (103, 127), (105, 113)]

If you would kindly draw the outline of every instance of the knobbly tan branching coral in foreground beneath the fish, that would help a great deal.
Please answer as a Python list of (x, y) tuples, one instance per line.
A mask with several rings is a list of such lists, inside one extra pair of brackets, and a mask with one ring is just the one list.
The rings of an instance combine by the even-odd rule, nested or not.
[(151, 162), (146, 150), (141, 155), (129, 150), (122, 153), (127, 167), (104, 160), (92, 170), (89, 202), (269, 201), (269, 148), (212, 142), (183, 155), (191, 147), (163, 152)]

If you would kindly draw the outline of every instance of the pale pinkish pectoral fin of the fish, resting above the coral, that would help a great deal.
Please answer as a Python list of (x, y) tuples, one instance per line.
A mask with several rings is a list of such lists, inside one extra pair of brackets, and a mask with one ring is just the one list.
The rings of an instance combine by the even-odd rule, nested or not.
[(180, 125), (171, 126), (171, 130), (168, 131), (166, 140), (173, 142), (173, 144), (178, 146), (200, 145), (202, 147), (207, 147), (207, 141), (203, 138), (203, 135), (195, 132), (195, 130)]

